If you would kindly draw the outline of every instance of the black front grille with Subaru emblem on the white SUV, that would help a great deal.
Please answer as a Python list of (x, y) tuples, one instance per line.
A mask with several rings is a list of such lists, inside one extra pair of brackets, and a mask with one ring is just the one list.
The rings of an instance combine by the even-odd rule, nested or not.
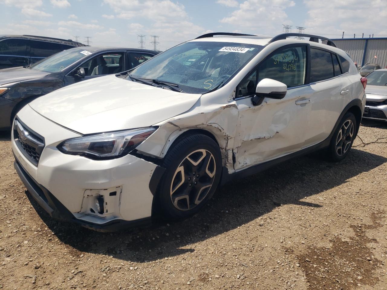
[(45, 147), (44, 138), (29, 129), (20, 120), (14, 121), (14, 139), (17, 147), (31, 163), (38, 166), (40, 155)]

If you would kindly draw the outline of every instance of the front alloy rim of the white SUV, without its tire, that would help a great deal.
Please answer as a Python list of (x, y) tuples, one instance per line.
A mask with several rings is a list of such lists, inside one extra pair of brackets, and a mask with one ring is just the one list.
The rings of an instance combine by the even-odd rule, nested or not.
[(171, 201), (178, 210), (190, 210), (208, 195), (216, 171), (211, 152), (199, 149), (188, 154), (173, 174)]

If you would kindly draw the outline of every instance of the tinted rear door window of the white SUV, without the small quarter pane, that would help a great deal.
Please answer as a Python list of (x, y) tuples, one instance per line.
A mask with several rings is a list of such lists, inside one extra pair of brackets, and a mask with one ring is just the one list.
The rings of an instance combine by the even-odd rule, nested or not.
[(331, 53), (321, 49), (310, 49), (310, 82), (319, 82), (334, 77)]

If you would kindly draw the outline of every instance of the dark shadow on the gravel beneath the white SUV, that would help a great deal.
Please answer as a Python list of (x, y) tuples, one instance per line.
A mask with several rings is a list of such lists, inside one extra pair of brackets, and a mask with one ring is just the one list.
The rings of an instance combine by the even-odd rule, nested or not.
[[(219, 188), (201, 212), (186, 220), (168, 225), (158, 219), (150, 227), (115, 233), (94, 232), (56, 222), (27, 196), (47, 226), (69, 246), (73, 256), (91, 252), (142, 263), (194, 252), (195, 243), (233, 230), (281, 205), (321, 207), (302, 199), (346, 183), (349, 178), (387, 161), (385, 157), (357, 149), (351, 150), (339, 163), (328, 162), (323, 156), (308, 155), (231, 182)], [(257, 227), (260, 228), (259, 223)]]

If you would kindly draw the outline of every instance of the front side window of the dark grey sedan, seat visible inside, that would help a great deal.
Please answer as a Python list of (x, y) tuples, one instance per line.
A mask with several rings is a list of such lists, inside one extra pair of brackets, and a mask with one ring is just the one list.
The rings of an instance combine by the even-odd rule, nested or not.
[(125, 69), (123, 64), (123, 53), (113, 52), (94, 56), (91, 60), (82, 63), (80, 67), (84, 68), (85, 76), (109, 75), (123, 72)]

